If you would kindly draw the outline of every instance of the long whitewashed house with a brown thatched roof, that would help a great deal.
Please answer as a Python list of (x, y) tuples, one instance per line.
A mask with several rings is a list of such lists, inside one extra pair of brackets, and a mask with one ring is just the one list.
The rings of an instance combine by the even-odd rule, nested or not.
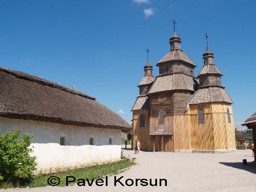
[(119, 160), (130, 125), (95, 98), (27, 73), (0, 67), (0, 132), (34, 137), (39, 169)]

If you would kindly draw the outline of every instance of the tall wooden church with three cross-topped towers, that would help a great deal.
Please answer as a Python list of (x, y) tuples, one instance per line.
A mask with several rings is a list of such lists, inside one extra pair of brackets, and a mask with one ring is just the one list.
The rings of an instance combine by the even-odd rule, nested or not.
[[(207, 35), (206, 35), (207, 36)], [(132, 142), (141, 149), (169, 152), (229, 152), (236, 149), (233, 103), (221, 84), (223, 74), (208, 48), (204, 66), (195, 77), (195, 63), (181, 50), (180, 37), (169, 40), (171, 50), (156, 64), (147, 62), (138, 84), (133, 112)]]

